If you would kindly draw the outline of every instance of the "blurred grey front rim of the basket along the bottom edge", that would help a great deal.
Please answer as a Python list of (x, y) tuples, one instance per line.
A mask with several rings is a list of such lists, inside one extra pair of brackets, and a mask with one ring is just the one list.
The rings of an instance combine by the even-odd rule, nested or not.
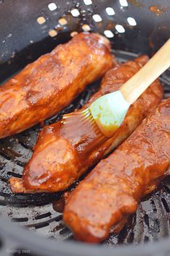
[[(10, 249), (29, 249), (30, 253), (48, 256), (144, 256), (159, 255), (159, 253), (170, 252), (169, 237), (150, 244), (127, 244), (114, 247), (106, 247), (102, 244), (85, 244), (83, 242), (63, 242), (47, 239), (45, 236), (37, 236), (33, 231), (18, 226), (17, 223), (0, 216), (0, 234), (8, 241), (12, 241), (15, 248)], [(15, 243), (14, 243), (15, 242)], [(2, 241), (3, 244), (3, 241)], [(5, 246), (4, 241), (4, 246)], [(22, 245), (21, 245), (22, 244)], [(8, 243), (9, 245), (9, 243)], [(9, 249), (9, 248), (8, 248)]]

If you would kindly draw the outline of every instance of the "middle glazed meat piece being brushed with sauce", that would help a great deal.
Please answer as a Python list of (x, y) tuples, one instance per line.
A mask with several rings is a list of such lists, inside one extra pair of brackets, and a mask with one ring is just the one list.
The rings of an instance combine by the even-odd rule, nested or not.
[[(101, 88), (89, 103), (100, 96), (120, 88), (148, 61), (140, 56), (116, 69), (109, 70), (102, 80)], [(45, 127), (35, 146), (35, 151), (24, 168), (22, 179), (12, 178), (12, 191), (17, 192), (56, 192), (68, 188), (89, 166), (97, 163), (111, 150), (122, 143), (138, 127), (148, 112), (152, 111), (162, 98), (162, 88), (158, 80), (138, 98), (128, 111), (125, 120), (111, 138), (97, 134), (91, 122), (79, 121), (78, 112), (67, 124), (58, 121)], [(89, 103), (84, 106), (86, 108)], [(76, 127), (76, 128), (75, 128)]]

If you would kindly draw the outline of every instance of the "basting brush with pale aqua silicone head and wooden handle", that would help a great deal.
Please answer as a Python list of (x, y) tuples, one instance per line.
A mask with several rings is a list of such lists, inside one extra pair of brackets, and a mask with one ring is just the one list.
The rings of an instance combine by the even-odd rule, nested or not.
[[(166, 69), (170, 67), (170, 39), (156, 54), (143, 66), (128, 82), (121, 86), (120, 90), (108, 93), (91, 103), (89, 108), (78, 111), (77, 114), (63, 116), (63, 124), (75, 121), (76, 127), (85, 122), (99, 128), (99, 133), (104, 137), (112, 137), (122, 124), (128, 112), (128, 108), (140, 95), (156, 80)], [(79, 115), (79, 119), (77, 118)], [(79, 121), (78, 121), (79, 120)], [(79, 123), (79, 124), (78, 124)]]

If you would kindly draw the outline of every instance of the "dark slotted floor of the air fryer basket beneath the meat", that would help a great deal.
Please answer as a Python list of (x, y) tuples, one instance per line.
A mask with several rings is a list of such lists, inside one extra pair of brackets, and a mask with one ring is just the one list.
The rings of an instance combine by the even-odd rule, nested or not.
[[(135, 57), (124, 51), (115, 51), (118, 61)], [(170, 70), (161, 77), (165, 97), (170, 95)], [(90, 95), (97, 90), (99, 82), (90, 85), (68, 108), (57, 116), (45, 121), (51, 124), (61, 118), (63, 113), (80, 108)], [(41, 195), (13, 195), (8, 180), (12, 176), (21, 177), (22, 170), (32, 155), (37, 135), (41, 127), (36, 126), (19, 135), (7, 137), (0, 144), (0, 212), (6, 218), (26, 226), (38, 235), (53, 237), (57, 240), (72, 240), (71, 231), (62, 221), (62, 213), (53, 209), (53, 202), (61, 198), (62, 193)], [(120, 234), (112, 234), (104, 241), (106, 246), (115, 244), (153, 242), (169, 236), (170, 220), (170, 181), (166, 179), (152, 195), (140, 203), (137, 213), (130, 217)]]

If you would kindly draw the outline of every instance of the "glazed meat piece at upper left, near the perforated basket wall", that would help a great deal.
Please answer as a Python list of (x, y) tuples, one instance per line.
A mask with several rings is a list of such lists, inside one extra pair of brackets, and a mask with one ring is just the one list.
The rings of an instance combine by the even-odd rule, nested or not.
[(0, 88), (0, 138), (53, 116), (113, 66), (109, 40), (80, 33)]

